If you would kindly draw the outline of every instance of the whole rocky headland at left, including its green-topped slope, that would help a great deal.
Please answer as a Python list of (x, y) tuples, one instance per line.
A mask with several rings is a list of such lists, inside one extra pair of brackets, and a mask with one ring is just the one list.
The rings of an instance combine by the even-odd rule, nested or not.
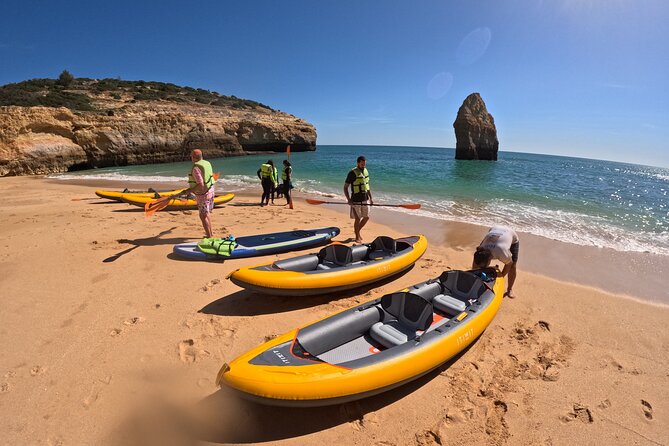
[(316, 148), (313, 125), (254, 101), (157, 82), (57, 82), (0, 87), (0, 176), (185, 161), (193, 148), (206, 158)]

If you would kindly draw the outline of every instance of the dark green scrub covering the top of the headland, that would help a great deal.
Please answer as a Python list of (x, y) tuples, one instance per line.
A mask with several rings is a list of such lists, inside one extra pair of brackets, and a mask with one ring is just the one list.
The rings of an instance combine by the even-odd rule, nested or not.
[(66, 107), (78, 112), (106, 113), (107, 107), (96, 99), (136, 103), (167, 101), (199, 103), (239, 110), (270, 107), (249, 99), (225, 96), (201, 88), (180, 87), (163, 82), (126, 81), (121, 79), (89, 79), (74, 77), (67, 70), (58, 79), (31, 79), (0, 86), (0, 106)]

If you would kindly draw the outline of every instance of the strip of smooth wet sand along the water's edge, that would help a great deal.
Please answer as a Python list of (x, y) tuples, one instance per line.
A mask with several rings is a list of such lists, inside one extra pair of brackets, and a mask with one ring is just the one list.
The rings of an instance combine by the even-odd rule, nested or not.
[[(149, 187), (147, 183), (127, 183), (114, 180), (55, 180), (51, 178), (44, 178), (44, 180), (54, 184), (73, 184), (96, 188), (117, 188), (128, 185), (138, 189)], [(174, 187), (174, 183), (158, 183), (156, 187), (168, 189)], [(261, 189), (260, 187), (257, 190), (245, 189), (235, 194), (244, 199), (253, 199), (256, 198), (256, 195), (260, 196)], [(299, 200), (303, 203), (302, 205), (310, 206), (306, 203), (306, 198), (322, 199), (323, 197), (298, 192), (294, 198), (296, 202)], [(347, 206), (328, 207), (348, 218)], [(439, 245), (455, 251), (473, 252), (487, 230), (487, 227), (475, 223), (412, 215), (410, 211), (392, 211), (382, 207), (374, 208), (371, 216), (377, 223), (385, 224), (400, 233), (403, 232), (408, 218), (414, 232), (425, 235), (431, 246)], [(342, 228), (342, 232), (346, 230), (347, 228)], [(522, 231), (518, 231), (518, 235), (521, 240), (518, 262), (521, 274), (531, 272), (630, 299), (657, 305), (669, 305), (669, 291), (658, 292), (664, 289), (664, 277), (669, 277), (669, 256), (577, 245)], [(565, 259), (574, 259), (574, 261), (565, 261)], [(462, 266), (462, 268), (469, 268), (469, 265)], [(630, 277), (635, 280), (630, 280)]]

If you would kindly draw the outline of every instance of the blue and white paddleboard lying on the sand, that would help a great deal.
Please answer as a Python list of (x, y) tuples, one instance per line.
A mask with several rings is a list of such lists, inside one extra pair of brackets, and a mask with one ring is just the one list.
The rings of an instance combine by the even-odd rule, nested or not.
[(204, 253), (199, 250), (197, 243), (181, 243), (175, 245), (172, 251), (175, 255), (190, 260), (241, 259), (316, 246), (337, 235), (339, 228), (329, 227), (243, 236), (235, 239), (237, 246), (229, 256)]

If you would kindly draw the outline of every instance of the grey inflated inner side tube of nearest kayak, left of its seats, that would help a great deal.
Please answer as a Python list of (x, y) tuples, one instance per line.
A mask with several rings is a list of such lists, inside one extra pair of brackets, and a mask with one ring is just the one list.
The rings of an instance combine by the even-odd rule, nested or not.
[(297, 341), (313, 356), (321, 355), (366, 334), (381, 320), (376, 305), (362, 311), (347, 311), (300, 329)]

